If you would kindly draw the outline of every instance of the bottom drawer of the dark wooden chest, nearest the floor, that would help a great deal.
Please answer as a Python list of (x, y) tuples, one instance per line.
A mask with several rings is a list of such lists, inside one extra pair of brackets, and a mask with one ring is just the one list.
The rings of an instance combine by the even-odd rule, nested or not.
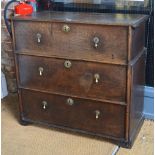
[(22, 90), (23, 117), (34, 122), (123, 138), (125, 106)]

